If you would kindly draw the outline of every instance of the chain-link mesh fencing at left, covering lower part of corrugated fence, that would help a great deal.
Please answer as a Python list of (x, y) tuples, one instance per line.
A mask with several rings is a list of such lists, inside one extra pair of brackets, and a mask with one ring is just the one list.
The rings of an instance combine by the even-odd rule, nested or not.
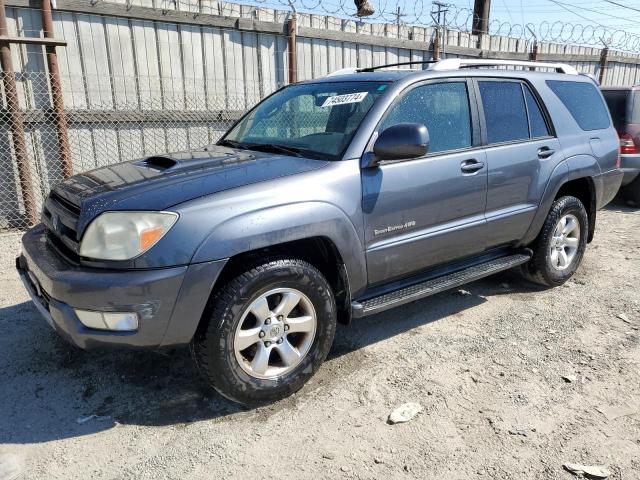
[[(3, 85), (6, 76), (0, 72)], [(215, 143), (244, 111), (258, 102), (264, 88), (239, 83), (241, 91), (206, 92), (206, 85), (166, 88), (175, 79), (153, 79), (164, 89), (145, 89), (152, 83), (140, 77), (67, 78), (83, 90), (130, 83), (136, 85), (131, 98), (93, 100), (89, 108), (65, 109), (66, 132), (58, 130), (51, 104), (48, 74), (24, 72), (15, 75), (18, 108), (10, 108), (3, 95), (0, 110), (0, 231), (25, 229), (37, 220), (42, 201), (52, 186), (64, 179), (58, 136), (66, 134), (73, 173), (145, 156), (203, 147)], [(201, 83), (201, 82), (200, 82)], [(67, 90), (66, 93), (69, 93)], [(12, 111), (14, 112), (12, 115)], [(20, 145), (20, 125), (23, 145)], [(17, 140), (17, 142), (16, 142)], [(32, 211), (30, 211), (32, 210)]]

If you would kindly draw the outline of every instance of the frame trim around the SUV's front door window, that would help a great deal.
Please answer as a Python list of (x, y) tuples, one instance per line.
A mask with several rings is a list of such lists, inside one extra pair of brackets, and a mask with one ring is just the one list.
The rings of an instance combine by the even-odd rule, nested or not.
[[(482, 147), (482, 139), (481, 139), (481, 128), (480, 128), (480, 110), (478, 108), (478, 102), (477, 102), (477, 95), (475, 92), (475, 88), (474, 85), (472, 83), (471, 78), (469, 77), (445, 77), (445, 78), (434, 78), (434, 79), (429, 79), (429, 80), (420, 80), (418, 82), (412, 83), (411, 85), (408, 85), (404, 90), (402, 90), (401, 92), (398, 93), (398, 95), (396, 96), (396, 98), (394, 98), (393, 102), (389, 105), (389, 107), (387, 108), (387, 110), (384, 112), (384, 114), (380, 117), (380, 120), (378, 120), (378, 123), (376, 124), (376, 127), (373, 131), (373, 134), (371, 135), (371, 138), (369, 139), (369, 142), (367, 144), (367, 148), (366, 151), (367, 152), (372, 152), (373, 151), (373, 144), (375, 143), (375, 139), (378, 137), (378, 135), (380, 134), (380, 125), (382, 125), (382, 123), (384, 122), (384, 120), (387, 118), (387, 116), (390, 114), (390, 112), (393, 110), (393, 108), (400, 102), (400, 100), (402, 100), (402, 98), (407, 95), (409, 92), (411, 92), (412, 90), (419, 88), (419, 87), (423, 87), (425, 85), (433, 85), (433, 84), (438, 84), (438, 83), (464, 83), (466, 88), (467, 88), (467, 101), (469, 102), (469, 121), (471, 124), (471, 146), (470, 147), (464, 147), (464, 148), (458, 148), (458, 149), (454, 149), (454, 150), (445, 150), (445, 151), (441, 151), (441, 152), (433, 152), (433, 153), (427, 153), (424, 157), (421, 158), (433, 158), (436, 156), (442, 156), (442, 155), (449, 155), (451, 153), (458, 153), (458, 152), (465, 152), (465, 151), (470, 151), (470, 150), (476, 150), (480, 147)], [(401, 162), (404, 160), (400, 160)], [(384, 164), (387, 163), (397, 163), (397, 161), (392, 161), (392, 162), (384, 162)]]

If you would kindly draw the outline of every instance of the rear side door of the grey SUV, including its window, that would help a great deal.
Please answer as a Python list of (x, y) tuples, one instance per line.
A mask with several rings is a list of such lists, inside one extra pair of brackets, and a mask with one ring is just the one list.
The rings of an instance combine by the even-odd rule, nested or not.
[(560, 156), (547, 117), (527, 84), (478, 79), (483, 139), (488, 165), (487, 247), (520, 240), (542, 197), (545, 164)]

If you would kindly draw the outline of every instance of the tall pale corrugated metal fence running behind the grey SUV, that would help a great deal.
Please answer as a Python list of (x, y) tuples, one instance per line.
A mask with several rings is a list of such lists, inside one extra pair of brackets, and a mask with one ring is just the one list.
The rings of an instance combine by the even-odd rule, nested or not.
[[(0, 232), (37, 222), (43, 199), (68, 173), (214, 143), (243, 112), (288, 83), (287, 12), (182, 0), (170, 4), (180, 10), (170, 15), (165, 0), (131, 0), (127, 5), (141, 9), (133, 16), (128, 8), (116, 8), (117, 3), (94, 3), (104, 7), (102, 14), (75, 3), (69, 8), (79, 11), (54, 12), (54, 36), (67, 43), (56, 49), (57, 98), (62, 97), (57, 105), (64, 121), (52, 103), (44, 48), (11, 46), (16, 73), (0, 72)], [(213, 9), (214, 3), (220, 8)], [(294, 4), (310, 10), (326, 7), (316, 0)], [(384, 5), (378, 4), (380, 12)], [(187, 11), (189, 17), (183, 15)], [(237, 20), (220, 16), (231, 14)], [(422, 14), (416, 13), (416, 20)], [(205, 21), (202, 15), (210, 18)], [(10, 36), (42, 35), (36, 8), (7, 8), (7, 18)], [(430, 60), (436, 30), (409, 29), (404, 24), (408, 18), (376, 24), (299, 13), (292, 68), (298, 80), (306, 80), (345, 67)], [(440, 45), (444, 58), (486, 52), (502, 54), (499, 58), (530, 57), (533, 44), (518, 35), (475, 37), (445, 25), (450, 29), (443, 31)], [(612, 68), (604, 69), (599, 49), (539, 47), (545, 60), (605, 73), (605, 84), (640, 81), (640, 55), (616, 53)]]

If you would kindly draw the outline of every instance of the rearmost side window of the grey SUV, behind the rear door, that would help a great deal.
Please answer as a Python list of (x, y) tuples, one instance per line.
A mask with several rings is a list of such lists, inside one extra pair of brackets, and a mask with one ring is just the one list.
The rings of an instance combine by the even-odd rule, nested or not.
[(576, 123), (583, 130), (600, 130), (611, 125), (607, 108), (598, 89), (591, 82), (547, 80)]

